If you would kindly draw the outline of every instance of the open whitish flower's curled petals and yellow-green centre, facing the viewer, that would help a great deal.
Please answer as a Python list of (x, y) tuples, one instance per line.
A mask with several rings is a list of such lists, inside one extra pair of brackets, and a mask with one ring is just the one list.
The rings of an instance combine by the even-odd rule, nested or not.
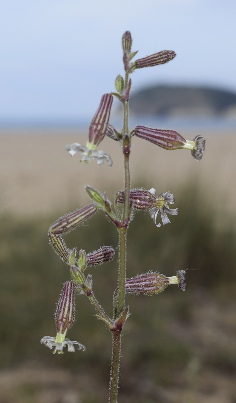
[[(149, 190), (149, 192), (152, 193), (153, 195), (155, 195), (156, 190), (152, 188)], [(177, 208), (175, 210), (171, 210), (168, 206), (168, 203), (174, 204), (174, 202), (175, 202), (175, 198), (171, 192), (160, 193), (157, 196), (157, 201), (155, 203), (155, 207), (153, 207), (149, 210), (149, 214), (150, 214), (151, 218), (153, 218), (153, 222), (156, 226), (158, 226), (158, 227), (161, 226), (160, 223), (157, 224), (157, 222), (156, 222), (158, 213), (161, 213), (161, 219), (162, 219), (163, 225), (170, 223), (170, 220), (167, 217), (166, 213), (172, 214), (173, 216), (176, 216), (177, 214), (179, 214), (179, 210)]]

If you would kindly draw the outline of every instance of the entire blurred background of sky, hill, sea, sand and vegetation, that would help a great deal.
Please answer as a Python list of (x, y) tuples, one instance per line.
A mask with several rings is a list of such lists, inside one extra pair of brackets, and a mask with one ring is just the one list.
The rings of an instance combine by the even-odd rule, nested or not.
[[(120, 403), (236, 402), (236, 3), (232, 0), (9, 0), (0, 12), (0, 403), (102, 403), (107, 400), (111, 337), (83, 295), (68, 337), (85, 353), (53, 355), (39, 343), (55, 335), (54, 311), (69, 272), (47, 231), (89, 203), (84, 185), (112, 199), (123, 187), (122, 152), (83, 166), (68, 143), (87, 141), (103, 93), (122, 74), (121, 37), (145, 57), (175, 50), (169, 64), (132, 74), (130, 129), (174, 129), (206, 139), (200, 162), (135, 138), (132, 187), (173, 192), (178, 216), (155, 227), (136, 213), (128, 235), (128, 277), (186, 272), (152, 297), (128, 296)], [(114, 102), (111, 121), (121, 129)], [(88, 225), (89, 224), (89, 225)], [(118, 233), (101, 212), (65, 237), (68, 247), (116, 250), (91, 268), (94, 293), (112, 311)]]

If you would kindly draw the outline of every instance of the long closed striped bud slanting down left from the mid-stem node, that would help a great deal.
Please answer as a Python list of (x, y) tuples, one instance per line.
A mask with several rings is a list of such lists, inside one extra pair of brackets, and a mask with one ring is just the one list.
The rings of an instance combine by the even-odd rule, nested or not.
[(96, 211), (96, 207), (94, 207), (93, 204), (89, 204), (80, 210), (76, 210), (65, 217), (59, 218), (50, 227), (49, 231), (52, 234), (65, 234), (75, 229), (79, 224), (82, 224), (82, 222), (95, 214)]

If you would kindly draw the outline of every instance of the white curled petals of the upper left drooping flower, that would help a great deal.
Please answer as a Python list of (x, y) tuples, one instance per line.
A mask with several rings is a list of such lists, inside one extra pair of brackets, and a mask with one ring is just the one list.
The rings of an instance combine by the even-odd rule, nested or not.
[(98, 165), (102, 165), (103, 161), (106, 160), (108, 162), (109, 166), (112, 166), (112, 159), (109, 154), (107, 154), (105, 151), (102, 150), (92, 150), (88, 147), (85, 147), (85, 145), (81, 145), (79, 143), (72, 143), (72, 144), (67, 144), (65, 146), (65, 150), (69, 151), (69, 154), (71, 154), (71, 157), (73, 157), (77, 152), (81, 151), (83, 158), (81, 159), (81, 162), (85, 162), (85, 164), (91, 162), (91, 160), (94, 160), (94, 158), (98, 159)]

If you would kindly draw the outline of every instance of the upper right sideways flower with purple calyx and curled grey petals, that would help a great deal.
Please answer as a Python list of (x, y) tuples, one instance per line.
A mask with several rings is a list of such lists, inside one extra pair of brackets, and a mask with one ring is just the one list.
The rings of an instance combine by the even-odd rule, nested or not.
[(193, 158), (197, 161), (201, 160), (205, 151), (205, 138), (203, 136), (196, 136), (193, 141), (185, 140), (177, 131), (153, 129), (145, 126), (136, 126), (134, 135), (159, 145), (165, 150), (187, 148), (187, 150), (191, 150)]

